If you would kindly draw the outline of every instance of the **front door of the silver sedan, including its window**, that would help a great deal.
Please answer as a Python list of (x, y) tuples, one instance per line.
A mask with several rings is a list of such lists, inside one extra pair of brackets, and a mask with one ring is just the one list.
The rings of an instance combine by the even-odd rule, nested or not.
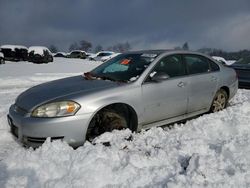
[[(169, 78), (154, 82), (150, 75), (166, 73)], [(142, 85), (145, 124), (183, 115), (187, 112), (187, 78), (181, 55), (162, 58)]]

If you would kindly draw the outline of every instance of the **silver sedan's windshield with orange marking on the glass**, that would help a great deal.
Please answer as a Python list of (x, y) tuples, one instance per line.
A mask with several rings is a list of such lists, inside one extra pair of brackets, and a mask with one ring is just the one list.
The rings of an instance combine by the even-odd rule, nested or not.
[(157, 54), (120, 54), (98, 66), (90, 74), (113, 81), (135, 81), (156, 57)]

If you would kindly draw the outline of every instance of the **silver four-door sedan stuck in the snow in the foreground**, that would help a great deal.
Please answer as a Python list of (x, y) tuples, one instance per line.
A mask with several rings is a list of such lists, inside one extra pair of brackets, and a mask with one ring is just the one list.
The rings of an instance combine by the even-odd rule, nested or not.
[(128, 52), (82, 76), (26, 90), (8, 122), (24, 145), (51, 137), (77, 147), (113, 129), (139, 131), (222, 110), (237, 89), (235, 71), (206, 55)]

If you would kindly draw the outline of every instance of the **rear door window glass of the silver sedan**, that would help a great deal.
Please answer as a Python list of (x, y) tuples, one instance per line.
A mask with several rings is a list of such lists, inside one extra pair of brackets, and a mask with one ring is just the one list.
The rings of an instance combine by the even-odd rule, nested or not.
[(210, 71), (207, 59), (202, 56), (187, 54), (184, 55), (184, 60), (187, 64), (189, 74), (200, 74)]

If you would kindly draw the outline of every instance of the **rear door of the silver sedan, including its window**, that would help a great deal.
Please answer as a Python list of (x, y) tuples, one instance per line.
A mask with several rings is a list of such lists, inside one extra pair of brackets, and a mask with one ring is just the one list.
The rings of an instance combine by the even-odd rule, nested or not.
[(219, 66), (195, 54), (185, 54), (183, 59), (189, 74), (188, 113), (210, 108), (217, 90)]

